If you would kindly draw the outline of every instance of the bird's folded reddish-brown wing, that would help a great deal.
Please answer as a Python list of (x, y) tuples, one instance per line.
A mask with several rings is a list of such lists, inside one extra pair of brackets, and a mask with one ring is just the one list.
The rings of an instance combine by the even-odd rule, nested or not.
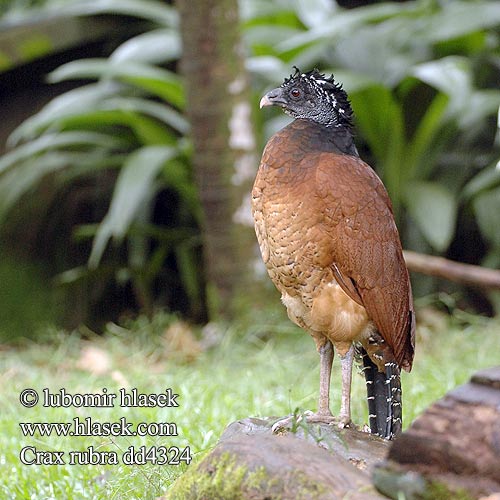
[(318, 153), (308, 161), (315, 163), (321, 230), (331, 244), (334, 275), (365, 307), (398, 364), (409, 370), (413, 301), (389, 196), (375, 172), (357, 157)]

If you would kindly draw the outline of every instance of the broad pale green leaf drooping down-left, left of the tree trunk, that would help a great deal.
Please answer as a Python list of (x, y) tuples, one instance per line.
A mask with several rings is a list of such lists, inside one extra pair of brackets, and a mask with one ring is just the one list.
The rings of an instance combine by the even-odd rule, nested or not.
[(99, 226), (89, 258), (96, 268), (110, 238), (122, 239), (143, 203), (153, 196), (153, 183), (165, 162), (177, 155), (175, 148), (146, 146), (132, 153), (120, 172), (108, 213)]

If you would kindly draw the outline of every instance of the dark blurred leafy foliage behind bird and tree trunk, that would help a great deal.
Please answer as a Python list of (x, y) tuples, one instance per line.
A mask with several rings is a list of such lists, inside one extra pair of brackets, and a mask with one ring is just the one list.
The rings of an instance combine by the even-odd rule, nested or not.
[[(498, 3), (248, 0), (240, 15), (254, 110), (293, 65), (333, 72), (350, 95), (361, 155), (391, 195), (404, 246), (500, 266)], [(31, 317), (99, 328), (156, 308), (206, 321), (210, 283), (175, 8), (64, 2), (57, 14), (37, 16), (113, 29), (71, 50), (53, 43), (41, 59), (0, 74), (11, 116), (2, 134), (12, 132), (0, 158), (8, 259), (0, 275), (30, 276), (15, 295), (9, 289), (10, 310), (32, 304), (20, 314), (28, 323), (2, 326), (3, 335), (25, 335)], [(4, 19), (7, 32), (12, 15)], [(27, 99), (33, 89), (44, 98)], [(287, 120), (275, 110), (253, 118), (257, 151)], [(494, 294), (431, 278), (414, 277), (414, 287), (417, 296), (445, 290), (479, 312), (499, 307)]]

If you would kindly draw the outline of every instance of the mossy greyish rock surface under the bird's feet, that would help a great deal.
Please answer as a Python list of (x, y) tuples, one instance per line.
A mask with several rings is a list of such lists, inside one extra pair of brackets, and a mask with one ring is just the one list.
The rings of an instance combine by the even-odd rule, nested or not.
[(273, 421), (231, 424), (215, 449), (177, 480), (167, 498), (384, 498), (371, 485), (370, 475), (385, 456), (387, 442), (354, 429), (323, 425), (275, 435), (270, 430)]

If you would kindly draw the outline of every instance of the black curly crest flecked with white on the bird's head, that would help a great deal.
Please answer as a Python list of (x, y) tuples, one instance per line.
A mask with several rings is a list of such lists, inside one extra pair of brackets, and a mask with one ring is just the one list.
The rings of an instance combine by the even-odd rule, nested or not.
[(333, 75), (326, 77), (316, 68), (307, 73), (302, 73), (297, 66), (293, 66), (293, 68), (295, 73), (286, 78), (281, 87), (301, 83), (310, 85), (318, 93), (322, 93), (327, 97), (327, 101), (337, 115), (338, 125), (352, 129), (354, 126), (353, 111), (347, 92), (342, 87), (342, 84), (337, 83)]

